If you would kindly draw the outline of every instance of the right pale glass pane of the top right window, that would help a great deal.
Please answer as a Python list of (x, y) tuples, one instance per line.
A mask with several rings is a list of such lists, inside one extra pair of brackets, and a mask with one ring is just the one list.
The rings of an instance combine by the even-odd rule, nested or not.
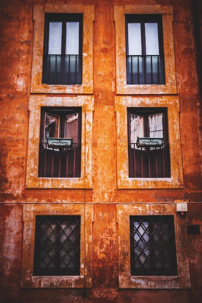
[(159, 55), (158, 23), (145, 23), (146, 55)]

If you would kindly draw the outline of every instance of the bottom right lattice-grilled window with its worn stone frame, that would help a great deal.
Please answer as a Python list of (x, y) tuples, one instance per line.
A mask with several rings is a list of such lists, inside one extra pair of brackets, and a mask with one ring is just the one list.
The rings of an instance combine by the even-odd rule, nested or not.
[(116, 209), (119, 287), (190, 288), (187, 220), (176, 214), (175, 203), (139, 199)]

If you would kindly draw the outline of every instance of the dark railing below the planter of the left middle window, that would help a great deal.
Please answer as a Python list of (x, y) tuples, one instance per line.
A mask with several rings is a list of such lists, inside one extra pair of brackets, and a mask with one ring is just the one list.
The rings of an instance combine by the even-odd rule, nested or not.
[(74, 143), (72, 148), (48, 148), (48, 144), (39, 143), (39, 177), (80, 178), (81, 143)]

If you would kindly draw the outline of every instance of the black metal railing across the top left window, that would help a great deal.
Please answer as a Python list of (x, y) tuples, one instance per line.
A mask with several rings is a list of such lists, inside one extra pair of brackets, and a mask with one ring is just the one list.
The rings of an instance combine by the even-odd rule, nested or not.
[(82, 84), (82, 56), (43, 55), (42, 83)]

